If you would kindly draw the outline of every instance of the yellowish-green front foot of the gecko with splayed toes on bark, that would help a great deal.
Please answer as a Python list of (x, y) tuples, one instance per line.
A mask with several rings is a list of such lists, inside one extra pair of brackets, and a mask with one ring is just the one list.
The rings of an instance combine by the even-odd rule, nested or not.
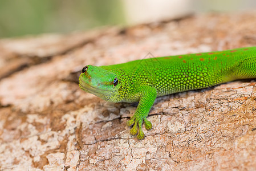
[[(128, 127), (132, 127), (131, 129), (131, 135), (136, 135), (136, 133), (138, 133), (137, 135), (137, 139), (138, 140), (142, 140), (144, 139), (145, 135), (144, 135), (144, 132), (142, 131), (142, 124), (143, 124), (143, 121), (145, 123), (145, 128), (147, 130), (151, 129), (152, 128), (152, 124), (150, 121), (147, 120), (147, 118), (144, 116), (144, 117), (140, 117), (140, 116), (132, 116), (131, 117), (131, 120), (129, 120), (127, 122), (127, 125)], [(138, 128), (139, 128), (139, 132), (138, 132)]]

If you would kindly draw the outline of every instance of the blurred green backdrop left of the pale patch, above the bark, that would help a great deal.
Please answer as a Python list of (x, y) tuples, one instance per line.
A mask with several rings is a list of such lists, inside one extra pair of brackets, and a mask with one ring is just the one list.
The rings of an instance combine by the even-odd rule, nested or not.
[(120, 2), (0, 0), (0, 37), (116, 25), (124, 21)]

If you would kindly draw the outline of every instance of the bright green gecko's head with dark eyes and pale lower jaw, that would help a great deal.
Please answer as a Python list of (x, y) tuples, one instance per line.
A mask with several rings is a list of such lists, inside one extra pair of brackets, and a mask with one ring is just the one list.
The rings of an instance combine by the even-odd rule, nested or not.
[(114, 72), (88, 65), (79, 76), (79, 87), (103, 100), (116, 102), (121, 83)]

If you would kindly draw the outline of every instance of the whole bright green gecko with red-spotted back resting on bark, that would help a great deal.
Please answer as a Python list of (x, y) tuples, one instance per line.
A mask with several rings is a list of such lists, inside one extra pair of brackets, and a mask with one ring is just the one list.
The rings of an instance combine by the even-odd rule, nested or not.
[(256, 47), (134, 60), (111, 66), (85, 66), (79, 87), (112, 102), (138, 102), (127, 125), (144, 139), (151, 129), (148, 113), (156, 97), (211, 87), (236, 79), (256, 78)]

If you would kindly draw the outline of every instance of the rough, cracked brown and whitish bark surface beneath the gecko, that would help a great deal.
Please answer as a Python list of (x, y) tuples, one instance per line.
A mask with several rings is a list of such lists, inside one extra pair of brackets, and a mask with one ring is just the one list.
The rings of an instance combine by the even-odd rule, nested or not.
[(78, 87), (86, 64), (256, 46), (256, 13), (0, 40), (0, 170), (255, 170), (256, 85), (240, 80), (159, 97), (145, 139), (136, 104)]

